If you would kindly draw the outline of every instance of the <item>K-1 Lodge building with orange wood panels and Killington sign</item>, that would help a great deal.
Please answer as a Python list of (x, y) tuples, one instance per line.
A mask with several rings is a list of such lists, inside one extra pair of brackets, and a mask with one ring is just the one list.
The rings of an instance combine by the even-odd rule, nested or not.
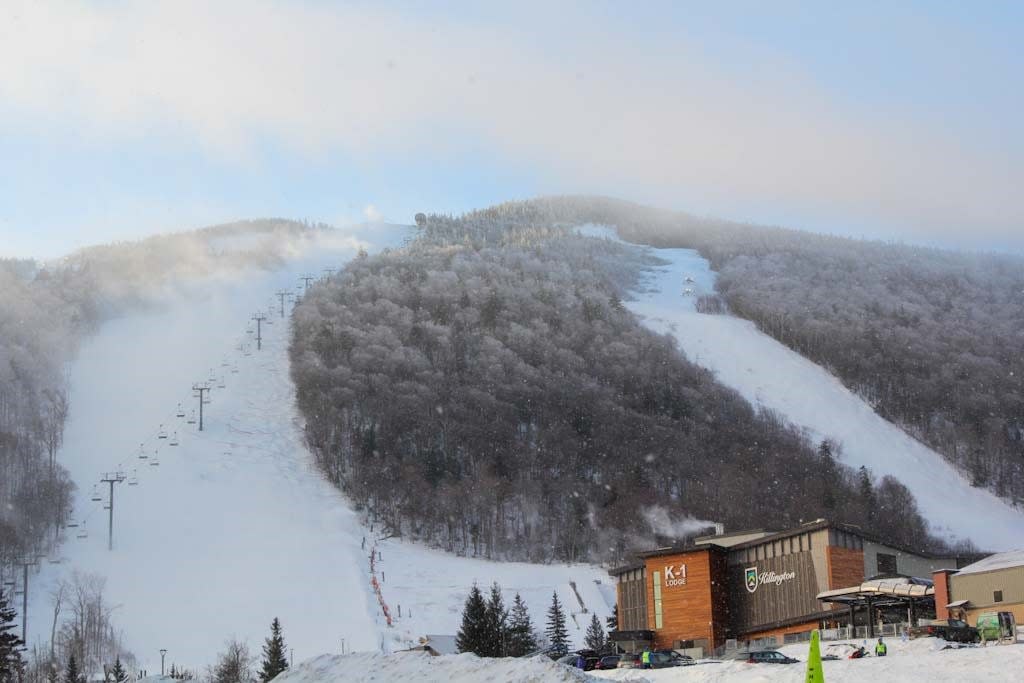
[(956, 566), (955, 557), (913, 552), (824, 519), (785, 531), (697, 538), (641, 553), (610, 572), (618, 604), (611, 638), (627, 650), (703, 652), (727, 641), (782, 642), (790, 634), (849, 623), (842, 605), (818, 600), (822, 592), (880, 575), (930, 578)]

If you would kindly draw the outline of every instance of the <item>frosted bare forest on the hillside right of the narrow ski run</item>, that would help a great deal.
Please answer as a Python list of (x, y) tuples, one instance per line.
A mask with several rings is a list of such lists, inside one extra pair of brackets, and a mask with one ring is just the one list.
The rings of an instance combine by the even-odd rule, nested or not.
[(1024, 504), (1024, 258), (697, 218), (600, 198), (517, 209), (696, 249), (729, 309), (820, 364), (976, 486)]

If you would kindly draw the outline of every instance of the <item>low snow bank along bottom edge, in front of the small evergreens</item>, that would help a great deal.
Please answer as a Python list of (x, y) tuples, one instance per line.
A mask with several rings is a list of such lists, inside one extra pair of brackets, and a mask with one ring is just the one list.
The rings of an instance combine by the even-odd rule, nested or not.
[(431, 656), (426, 652), (395, 654), (325, 654), (287, 671), (275, 683), (330, 681), (416, 681), (417, 683), (545, 683), (593, 681), (593, 677), (539, 656), (528, 659), (484, 659), (475, 654)]

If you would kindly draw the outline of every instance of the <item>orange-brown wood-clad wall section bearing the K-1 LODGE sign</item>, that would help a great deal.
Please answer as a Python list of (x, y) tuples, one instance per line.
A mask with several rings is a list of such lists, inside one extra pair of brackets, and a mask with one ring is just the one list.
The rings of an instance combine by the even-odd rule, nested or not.
[[(710, 640), (724, 634), (726, 624), (715, 624), (712, 591), (722, 586), (722, 575), (713, 575), (724, 560), (712, 559), (716, 551), (695, 550), (677, 555), (663, 555), (646, 560), (647, 575), (647, 628), (654, 632), (654, 647), (673, 647), (677, 640)], [(686, 566), (686, 584), (666, 585), (666, 567), (679, 574), (679, 567)], [(662, 597), (662, 626), (657, 627), (654, 581), (659, 582)], [(722, 587), (724, 588), (724, 587)], [(721, 589), (719, 589), (721, 590)]]

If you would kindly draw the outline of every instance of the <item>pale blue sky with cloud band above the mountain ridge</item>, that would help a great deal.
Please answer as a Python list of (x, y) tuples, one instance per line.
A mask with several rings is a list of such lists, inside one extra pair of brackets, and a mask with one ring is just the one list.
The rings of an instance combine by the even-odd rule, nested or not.
[(1011, 2), (5, 0), (0, 256), (577, 193), (1024, 252), (1022, 39)]

